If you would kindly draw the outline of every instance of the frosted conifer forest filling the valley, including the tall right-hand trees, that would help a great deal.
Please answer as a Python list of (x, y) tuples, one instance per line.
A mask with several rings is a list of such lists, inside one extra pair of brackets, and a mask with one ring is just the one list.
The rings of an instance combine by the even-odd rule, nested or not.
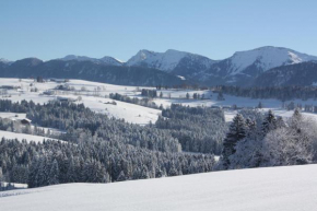
[[(173, 104), (144, 127), (74, 103), (1, 99), (0, 112), (26, 113), (36, 126), (0, 118), (2, 130), (47, 138), (38, 143), (1, 139), (0, 179), (30, 188), (317, 161), (317, 128), (298, 109), (286, 121), (271, 110), (242, 109), (228, 125), (220, 108)], [(62, 132), (45, 132), (42, 127)]]

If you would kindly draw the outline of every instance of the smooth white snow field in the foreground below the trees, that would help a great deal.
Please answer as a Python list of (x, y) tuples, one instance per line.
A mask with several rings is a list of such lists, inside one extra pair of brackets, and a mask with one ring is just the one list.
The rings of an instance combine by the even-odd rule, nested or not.
[(316, 173), (317, 165), (305, 165), (57, 185), (0, 192), (0, 204), (8, 211), (312, 211)]

